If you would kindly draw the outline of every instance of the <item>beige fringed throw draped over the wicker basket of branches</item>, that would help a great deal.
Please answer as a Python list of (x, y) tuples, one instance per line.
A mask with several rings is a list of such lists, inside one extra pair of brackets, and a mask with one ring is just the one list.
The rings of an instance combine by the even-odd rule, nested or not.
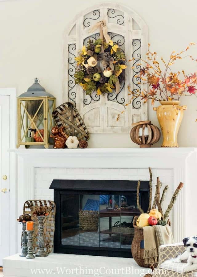
[(163, 244), (174, 243), (171, 227), (169, 225), (143, 227), (144, 232), (144, 260), (145, 263), (154, 264), (158, 258), (158, 248)]

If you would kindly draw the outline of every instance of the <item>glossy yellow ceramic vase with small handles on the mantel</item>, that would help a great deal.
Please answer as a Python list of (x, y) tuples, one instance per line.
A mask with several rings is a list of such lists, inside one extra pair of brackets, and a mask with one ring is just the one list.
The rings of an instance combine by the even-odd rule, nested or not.
[(157, 119), (163, 133), (161, 147), (178, 147), (177, 135), (187, 106), (180, 106), (179, 101), (161, 101), (161, 106), (153, 108), (157, 111)]

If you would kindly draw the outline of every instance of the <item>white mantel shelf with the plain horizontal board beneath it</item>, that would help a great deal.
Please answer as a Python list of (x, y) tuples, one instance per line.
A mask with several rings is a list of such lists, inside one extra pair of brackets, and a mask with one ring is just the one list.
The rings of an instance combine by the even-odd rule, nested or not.
[(174, 168), (197, 148), (9, 149), (35, 167)]

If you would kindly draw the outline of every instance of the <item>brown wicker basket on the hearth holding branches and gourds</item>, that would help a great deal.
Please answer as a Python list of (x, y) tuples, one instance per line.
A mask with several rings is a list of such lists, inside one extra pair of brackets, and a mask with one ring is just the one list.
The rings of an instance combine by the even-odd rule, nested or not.
[[(144, 233), (143, 233), (143, 228), (138, 227), (136, 225), (137, 219), (138, 219), (138, 216), (135, 216), (133, 220), (133, 227), (135, 231), (134, 231), (134, 238), (131, 244), (131, 253), (135, 262), (137, 262), (137, 264), (140, 267), (151, 267), (151, 265), (145, 263), (143, 259), (144, 248), (140, 248), (140, 244), (144, 240)], [(157, 265), (158, 263), (153, 264), (154, 267), (157, 267)]]

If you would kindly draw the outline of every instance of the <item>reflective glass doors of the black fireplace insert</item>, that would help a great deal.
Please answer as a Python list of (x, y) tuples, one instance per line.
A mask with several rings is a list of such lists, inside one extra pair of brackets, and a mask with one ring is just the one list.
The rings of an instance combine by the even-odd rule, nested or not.
[(136, 194), (61, 194), (61, 244), (131, 249)]

